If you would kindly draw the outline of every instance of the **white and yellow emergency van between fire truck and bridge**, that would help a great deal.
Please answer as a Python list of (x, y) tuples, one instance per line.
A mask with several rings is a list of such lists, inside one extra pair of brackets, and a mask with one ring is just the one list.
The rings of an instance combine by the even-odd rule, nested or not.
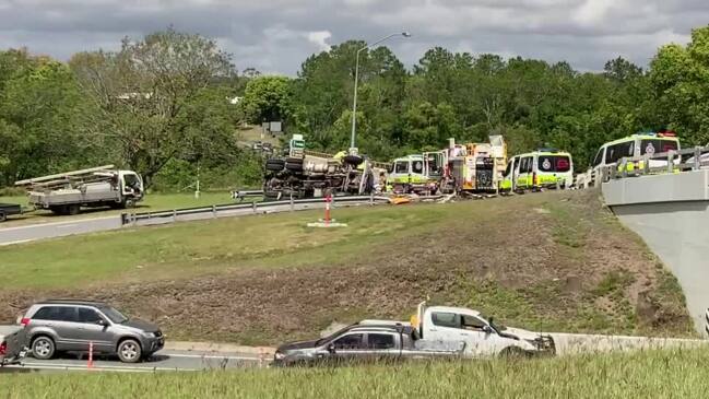
[(556, 149), (540, 149), (515, 155), (507, 163), (500, 181), (501, 192), (569, 188), (574, 184), (571, 154)]

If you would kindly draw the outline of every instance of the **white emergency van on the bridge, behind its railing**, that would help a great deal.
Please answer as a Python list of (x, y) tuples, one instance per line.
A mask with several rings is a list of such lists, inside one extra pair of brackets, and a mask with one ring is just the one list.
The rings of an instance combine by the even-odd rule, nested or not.
[[(577, 186), (593, 186), (595, 180), (601, 176), (601, 169), (606, 166), (617, 166), (624, 157), (635, 157), (665, 153), (667, 151), (680, 151), (680, 140), (674, 131), (660, 131), (639, 133), (625, 137), (615, 141), (607, 142), (599, 149), (591, 162), (586, 174), (577, 178)], [(680, 162), (676, 160), (676, 162)], [(649, 160), (649, 167), (666, 166), (667, 162), (662, 160)], [(635, 168), (643, 168), (642, 161), (628, 163), (626, 168), (633, 172)]]

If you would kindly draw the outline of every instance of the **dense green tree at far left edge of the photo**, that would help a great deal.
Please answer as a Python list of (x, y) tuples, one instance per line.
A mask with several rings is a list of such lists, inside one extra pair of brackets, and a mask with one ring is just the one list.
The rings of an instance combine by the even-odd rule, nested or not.
[(0, 181), (86, 165), (97, 148), (82, 129), (86, 109), (66, 64), (26, 50), (0, 52)]

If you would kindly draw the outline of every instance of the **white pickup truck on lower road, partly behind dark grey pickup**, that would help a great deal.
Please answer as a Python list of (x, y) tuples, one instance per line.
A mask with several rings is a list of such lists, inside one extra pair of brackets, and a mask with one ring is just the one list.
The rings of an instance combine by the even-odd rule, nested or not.
[(415, 325), (421, 339), (440, 343), (464, 342), (470, 356), (554, 354), (554, 340), (494, 322), (477, 310), (463, 307), (418, 305)]

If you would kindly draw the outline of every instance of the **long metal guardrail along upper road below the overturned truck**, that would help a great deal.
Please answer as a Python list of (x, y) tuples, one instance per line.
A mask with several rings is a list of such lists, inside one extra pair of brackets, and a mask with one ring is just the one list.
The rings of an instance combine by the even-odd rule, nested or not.
[[(389, 198), (379, 197), (379, 196), (333, 197), (332, 206), (336, 206), (338, 203), (344, 203), (344, 204), (389, 203)], [(249, 210), (249, 209), (252, 210), (253, 214), (268, 212), (269, 210), (272, 212), (286, 212), (286, 211), (292, 212), (292, 211), (307, 209), (307, 208), (298, 207), (305, 204), (315, 204), (315, 206), (322, 204), (322, 207), (324, 207), (324, 199), (323, 198), (315, 198), (315, 199), (291, 198), (288, 200), (281, 200), (281, 201), (236, 203), (236, 204), (228, 203), (228, 204), (217, 204), (211, 207), (182, 208), (182, 209), (175, 209), (170, 211), (122, 213), (121, 224), (122, 225), (135, 224), (141, 221), (151, 221), (151, 220), (163, 220), (163, 221), (167, 220), (167, 222), (170, 222), (170, 219), (172, 221), (177, 221), (178, 216), (194, 215), (194, 214), (205, 215), (206, 218), (203, 219), (209, 219), (210, 215), (212, 218), (217, 218), (220, 213), (224, 213), (228, 211), (237, 211), (237, 210)], [(287, 207), (287, 209), (282, 209), (283, 207)]]

